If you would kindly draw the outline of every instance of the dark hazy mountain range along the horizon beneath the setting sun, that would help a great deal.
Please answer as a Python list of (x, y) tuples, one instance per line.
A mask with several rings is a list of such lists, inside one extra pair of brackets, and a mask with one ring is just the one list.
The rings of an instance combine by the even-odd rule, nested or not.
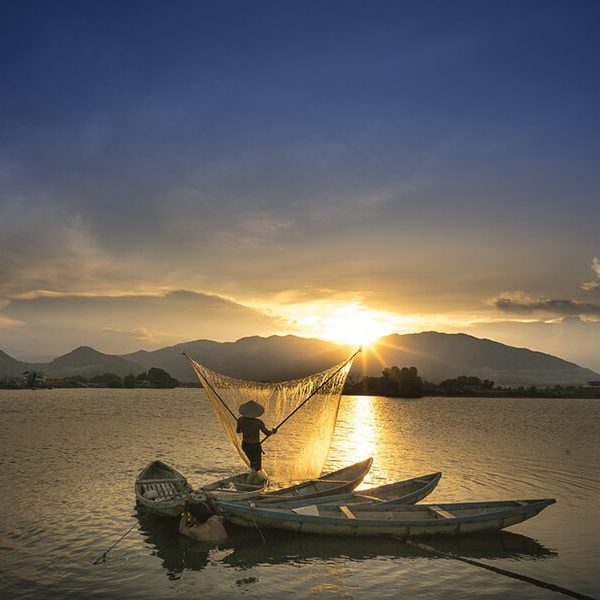
[[(352, 348), (318, 339), (292, 335), (246, 337), (236, 342), (195, 340), (161, 348), (115, 356), (82, 346), (49, 363), (19, 361), (0, 350), (0, 376), (18, 376), (26, 370), (50, 377), (104, 372), (124, 376), (159, 367), (182, 382), (196, 381), (187, 353), (208, 368), (259, 381), (282, 381), (324, 370), (350, 355)], [(471, 375), (500, 385), (568, 385), (600, 379), (590, 369), (556, 356), (515, 348), (466, 334), (434, 331), (380, 338), (365, 348), (354, 362), (353, 373), (377, 376), (384, 367), (414, 366), (427, 380)]]

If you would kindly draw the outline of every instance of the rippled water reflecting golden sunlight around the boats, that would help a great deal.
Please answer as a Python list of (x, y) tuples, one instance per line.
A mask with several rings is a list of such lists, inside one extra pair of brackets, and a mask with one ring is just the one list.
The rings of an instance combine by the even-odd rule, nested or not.
[[(200, 390), (2, 391), (0, 411), (3, 598), (560, 597), (393, 540), (230, 528), (210, 546), (138, 515), (152, 459), (192, 485), (240, 470)], [(555, 497), (505, 532), (431, 543), (599, 597), (599, 417), (594, 400), (345, 397), (326, 468), (372, 455), (365, 485), (441, 470), (432, 502)]]

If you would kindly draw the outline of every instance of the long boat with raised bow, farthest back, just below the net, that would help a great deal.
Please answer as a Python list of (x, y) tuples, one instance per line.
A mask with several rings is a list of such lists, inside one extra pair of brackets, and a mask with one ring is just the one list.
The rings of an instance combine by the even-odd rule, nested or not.
[[(309, 479), (298, 483), (297, 485), (270, 492), (262, 492), (260, 489), (255, 491), (241, 489), (240, 492), (236, 494), (234, 489), (229, 491), (223, 490), (222, 488), (211, 490), (210, 486), (205, 486), (201, 491), (207, 492), (217, 502), (245, 502), (251, 500), (252, 502), (262, 504), (282, 502), (290, 499), (318, 498), (321, 496), (351, 492), (365, 478), (365, 475), (369, 472), (372, 464), (373, 459), (367, 458), (366, 460), (350, 465), (349, 467), (344, 467), (343, 469), (322, 475), (318, 479)], [(245, 475), (237, 475), (236, 477), (245, 477)], [(216, 483), (220, 482), (215, 482), (215, 484)]]

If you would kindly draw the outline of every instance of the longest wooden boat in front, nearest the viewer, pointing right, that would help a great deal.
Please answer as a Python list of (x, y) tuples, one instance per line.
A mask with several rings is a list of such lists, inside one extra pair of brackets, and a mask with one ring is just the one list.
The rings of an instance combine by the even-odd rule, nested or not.
[(554, 499), (461, 502), (389, 507), (374, 511), (340, 504), (299, 508), (220, 503), (225, 518), (244, 527), (274, 527), (324, 535), (412, 538), (495, 531), (525, 521), (554, 504)]

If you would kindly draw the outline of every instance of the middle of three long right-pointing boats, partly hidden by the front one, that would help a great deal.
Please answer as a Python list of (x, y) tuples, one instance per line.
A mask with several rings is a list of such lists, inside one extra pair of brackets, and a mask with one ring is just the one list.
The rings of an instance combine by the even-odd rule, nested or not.
[[(422, 500), (435, 489), (442, 477), (441, 473), (421, 475), (413, 479), (406, 479), (396, 483), (389, 483), (379, 487), (364, 490), (335, 494), (333, 496), (322, 496), (318, 498), (293, 498), (269, 502), (269, 506), (281, 506), (284, 508), (300, 508), (318, 504), (324, 509), (335, 509), (340, 504), (360, 504), (361, 507), (372, 510), (385, 510), (388, 506), (397, 504), (415, 504)], [(262, 504), (262, 503), (261, 503)]]

